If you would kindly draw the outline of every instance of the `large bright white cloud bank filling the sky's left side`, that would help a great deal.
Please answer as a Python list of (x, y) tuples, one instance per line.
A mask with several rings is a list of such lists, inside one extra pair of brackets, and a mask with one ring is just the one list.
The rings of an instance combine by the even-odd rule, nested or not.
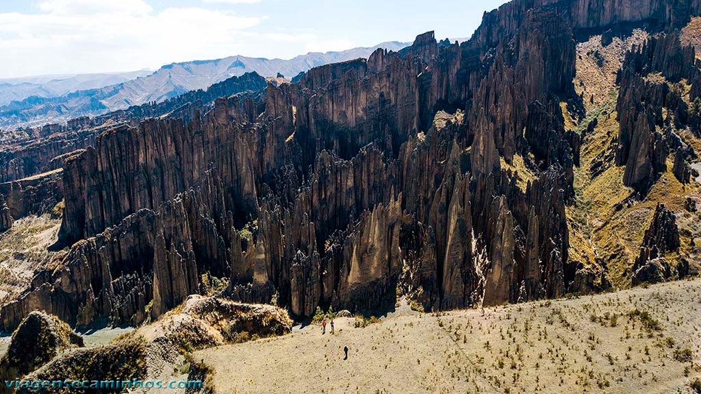
[(44, 0), (0, 13), (0, 78), (158, 68), (247, 48), (264, 17), (207, 8), (154, 12), (144, 0)]

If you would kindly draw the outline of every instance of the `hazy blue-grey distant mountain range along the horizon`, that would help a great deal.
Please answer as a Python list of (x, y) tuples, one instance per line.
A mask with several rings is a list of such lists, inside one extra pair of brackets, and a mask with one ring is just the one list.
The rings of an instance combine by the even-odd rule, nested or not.
[[(143, 72), (132, 73), (132, 79), (118, 83), (108, 82), (108, 76), (117, 79), (125, 78), (128, 74), (79, 75), (48, 81), (43, 77), (34, 82), (24, 79), (14, 85), (11, 80), (0, 80), (0, 128), (65, 122), (79, 116), (95, 116), (146, 102), (161, 102), (246, 72), (257, 72), (261, 76), (282, 74), (292, 79), (312, 67), (368, 57), (377, 48), (397, 51), (409, 44), (388, 41), (340, 52), (308, 53), (290, 60), (230, 56), (217, 60), (172, 63), (146, 76), (139, 74)], [(100, 81), (109, 84), (99, 86)], [(7, 102), (8, 97), (16, 98)]]

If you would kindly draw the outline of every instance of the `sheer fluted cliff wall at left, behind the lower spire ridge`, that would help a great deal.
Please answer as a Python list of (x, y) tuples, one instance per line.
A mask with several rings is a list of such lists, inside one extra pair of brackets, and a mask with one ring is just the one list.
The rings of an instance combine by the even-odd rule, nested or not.
[[(236, 123), (220, 125), (216, 114), (210, 112), (203, 123), (149, 120), (139, 128), (121, 126), (98, 137), (95, 149), (69, 159), (64, 185), (72, 193), (65, 198), (67, 215), (59, 240), (71, 245), (140, 209), (156, 210), (202, 182), (210, 168), (223, 169), (223, 197), (234, 216), (250, 217), (257, 210), (253, 171), (261, 172), (250, 152), (269, 142), (264, 133), (256, 133), (257, 126), (241, 130)], [(129, 152), (128, 161), (123, 152)], [(274, 160), (273, 152), (269, 154)]]

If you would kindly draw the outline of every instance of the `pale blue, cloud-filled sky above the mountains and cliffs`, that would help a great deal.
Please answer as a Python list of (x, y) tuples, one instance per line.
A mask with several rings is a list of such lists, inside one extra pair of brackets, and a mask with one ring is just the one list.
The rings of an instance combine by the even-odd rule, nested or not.
[(469, 38), (505, 0), (0, 0), (0, 79)]

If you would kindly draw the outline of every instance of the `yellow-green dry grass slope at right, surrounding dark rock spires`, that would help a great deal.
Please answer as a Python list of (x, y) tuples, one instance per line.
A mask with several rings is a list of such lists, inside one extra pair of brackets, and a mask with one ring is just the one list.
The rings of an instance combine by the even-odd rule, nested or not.
[[(690, 26), (694, 23), (701, 21), (694, 20)], [(686, 39), (692, 37), (693, 32), (687, 29)], [(581, 165), (575, 168), (576, 201), (567, 208), (569, 255), (572, 260), (581, 261), (597, 270), (606, 264), (608, 280), (618, 288), (630, 285), (632, 264), (639, 254), (645, 230), (658, 203), (664, 203), (675, 212), (679, 225), (679, 253), (665, 256), (672, 267), (685, 258), (690, 261), (692, 272), (697, 272), (701, 253), (698, 247), (701, 228), (697, 224), (701, 216), (698, 212), (687, 212), (684, 206), (687, 198), (700, 200), (699, 184), (692, 182), (685, 186), (677, 181), (672, 174), (672, 156), (667, 161), (667, 172), (662, 174), (642, 201), (629, 198), (632, 189), (622, 182), (625, 168), (615, 167), (614, 163), (604, 166), (603, 171), (592, 179), (594, 163), (607, 154), (610, 158), (615, 154), (619, 128), (615, 111), (618, 99), (615, 73), (620, 68), (625, 51), (644, 39), (644, 32), (635, 31), (625, 40), (614, 38), (606, 47), (601, 46), (599, 36), (579, 43), (574, 82), (578, 93), (585, 98), (587, 116), (576, 123), (569, 114), (564, 113), (567, 123), (579, 133), (591, 121), (597, 120), (597, 126), (583, 139)], [(663, 78), (660, 75), (653, 77)], [(678, 85), (674, 88), (683, 92), (683, 97), (688, 100), (688, 86), (683, 82)], [(693, 137), (688, 130), (681, 130), (681, 137), (694, 147), (701, 144), (701, 140)]]

